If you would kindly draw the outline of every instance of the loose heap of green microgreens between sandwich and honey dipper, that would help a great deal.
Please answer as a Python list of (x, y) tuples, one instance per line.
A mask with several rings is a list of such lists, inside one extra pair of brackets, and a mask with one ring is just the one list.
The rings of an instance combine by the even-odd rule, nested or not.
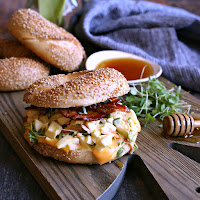
[(121, 99), (138, 117), (145, 119), (144, 126), (157, 117), (163, 120), (167, 115), (189, 113), (191, 105), (180, 100), (180, 86), (176, 91), (174, 85), (168, 90), (163, 82), (150, 77), (147, 83), (135, 84), (130, 88), (130, 92)]

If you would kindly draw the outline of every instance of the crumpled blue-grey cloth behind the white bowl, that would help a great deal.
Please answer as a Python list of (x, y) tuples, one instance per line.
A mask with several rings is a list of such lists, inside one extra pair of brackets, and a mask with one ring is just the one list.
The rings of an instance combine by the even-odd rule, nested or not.
[(71, 23), (88, 54), (116, 49), (152, 60), (163, 76), (200, 92), (200, 17), (147, 1), (91, 0)]

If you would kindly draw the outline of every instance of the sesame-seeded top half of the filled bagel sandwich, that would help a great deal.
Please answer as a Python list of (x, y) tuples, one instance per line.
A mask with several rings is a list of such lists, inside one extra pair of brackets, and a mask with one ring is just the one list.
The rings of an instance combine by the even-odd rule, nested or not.
[(74, 72), (42, 78), (24, 94), (24, 101), (37, 107), (89, 106), (129, 92), (125, 77), (113, 68)]

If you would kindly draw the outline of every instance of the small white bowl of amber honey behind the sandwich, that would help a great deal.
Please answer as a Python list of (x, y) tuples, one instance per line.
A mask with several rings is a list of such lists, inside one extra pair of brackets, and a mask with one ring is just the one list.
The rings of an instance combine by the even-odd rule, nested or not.
[(115, 68), (120, 71), (129, 84), (145, 82), (149, 77), (158, 78), (162, 74), (160, 65), (143, 57), (115, 50), (93, 53), (85, 63), (87, 70)]

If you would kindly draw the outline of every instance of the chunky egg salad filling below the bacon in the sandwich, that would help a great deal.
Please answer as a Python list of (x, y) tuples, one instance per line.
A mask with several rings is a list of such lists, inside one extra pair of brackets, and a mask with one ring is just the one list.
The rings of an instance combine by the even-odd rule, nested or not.
[(31, 144), (46, 143), (63, 151), (92, 151), (100, 164), (137, 149), (140, 123), (133, 110), (115, 111), (99, 120), (73, 120), (60, 109), (28, 109), (25, 138)]

